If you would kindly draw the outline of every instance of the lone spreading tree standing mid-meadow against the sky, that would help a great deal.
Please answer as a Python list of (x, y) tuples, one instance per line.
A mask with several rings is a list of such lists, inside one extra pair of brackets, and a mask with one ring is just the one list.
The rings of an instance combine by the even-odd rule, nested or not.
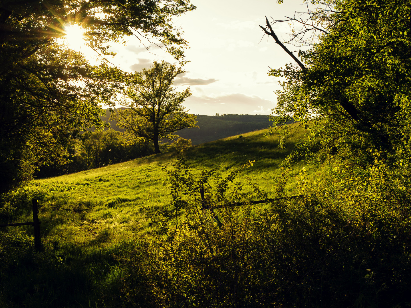
[(125, 129), (130, 140), (154, 143), (154, 153), (160, 153), (159, 140), (174, 139), (174, 133), (187, 127), (195, 127), (196, 116), (187, 114), (182, 102), (191, 96), (188, 87), (183, 92), (174, 92), (173, 80), (184, 71), (168, 62), (154, 62), (150, 69), (130, 75), (125, 91), (131, 100), (128, 107), (111, 116), (117, 126)]

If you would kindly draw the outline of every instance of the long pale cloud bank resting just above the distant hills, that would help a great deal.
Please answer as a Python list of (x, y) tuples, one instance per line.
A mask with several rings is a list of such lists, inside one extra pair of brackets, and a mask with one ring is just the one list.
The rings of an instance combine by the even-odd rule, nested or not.
[(184, 106), (190, 110), (190, 113), (198, 115), (215, 115), (216, 113), (270, 115), (275, 104), (256, 95), (226, 93), (215, 97), (193, 95), (185, 100)]

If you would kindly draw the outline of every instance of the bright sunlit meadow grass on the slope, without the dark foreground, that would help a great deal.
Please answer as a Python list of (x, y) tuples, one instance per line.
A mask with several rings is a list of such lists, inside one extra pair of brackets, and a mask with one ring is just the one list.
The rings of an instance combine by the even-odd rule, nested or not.
[[(268, 195), (274, 193), (278, 165), (302, 136), (290, 138), (285, 149), (277, 147), (277, 136), (265, 131), (233, 136), (191, 147), (185, 153), (194, 170), (215, 168), (228, 174), (249, 160), (256, 162), (239, 179), (251, 179)], [(131, 238), (135, 232), (151, 232), (145, 211), (155, 211), (170, 202), (167, 173), (178, 153), (148, 156), (71, 175), (39, 179), (36, 186), (48, 193), (39, 202), (40, 219), (48, 226), (45, 241), (57, 235), (65, 241), (106, 246)], [(299, 167), (296, 166), (295, 175)], [(291, 176), (287, 186), (291, 191)], [(105, 236), (102, 236), (106, 230)]]

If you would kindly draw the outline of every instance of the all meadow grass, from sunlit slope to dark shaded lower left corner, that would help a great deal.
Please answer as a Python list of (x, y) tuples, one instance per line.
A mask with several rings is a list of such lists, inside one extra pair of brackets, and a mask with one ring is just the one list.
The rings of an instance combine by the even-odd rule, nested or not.
[[(187, 162), (194, 170), (215, 168), (228, 173), (255, 160), (239, 179), (247, 176), (270, 196), (279, 163), (304, 132), (296, 131), (284, 149), (277, 147), (277, 136), (265, 137), (265, 132), (191, 147), (185, 153)], [(29, 184), (28, 190), (44, 195), (39, 201), (44, 252), (31, 252), (31, 226), (3, 228), (7, 234), (0, 241), (0, 306), (119, 305), (115, 296), (122, 277), (118, 256), (139, 236), (155, 232), (146, 213), (170, 203), (170, 185), (163, 168), (172, 168), (177, 156), (169, 152)], [(291, 175), (301, 167), (296, 165)], [(290, 195), (295, 185), (291, 177), (286, 187)], [(31, 219), (26, 202), (9, 222)], [(14, 249), (19, 242), (25, 246)], [(25, 291), (17, 295), (16, 290)]]

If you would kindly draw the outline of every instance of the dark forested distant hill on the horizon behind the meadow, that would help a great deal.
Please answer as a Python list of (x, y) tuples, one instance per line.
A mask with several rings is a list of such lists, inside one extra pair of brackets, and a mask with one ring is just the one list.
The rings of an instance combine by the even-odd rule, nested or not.
[[(122, 109), (122, 108), (121, 108)], [(269, 115), (196, 115), (197, 127), (177, 131), (178, 136), (191, 139), (193, 145), (226, 138), (250, 131), (266, 129), (270, 126)], [(109, 121), (110, 111), (106, 110), (106, 116), (102, 120), (110, 123), (110, 127), (122, 131), (115, 121)]]

